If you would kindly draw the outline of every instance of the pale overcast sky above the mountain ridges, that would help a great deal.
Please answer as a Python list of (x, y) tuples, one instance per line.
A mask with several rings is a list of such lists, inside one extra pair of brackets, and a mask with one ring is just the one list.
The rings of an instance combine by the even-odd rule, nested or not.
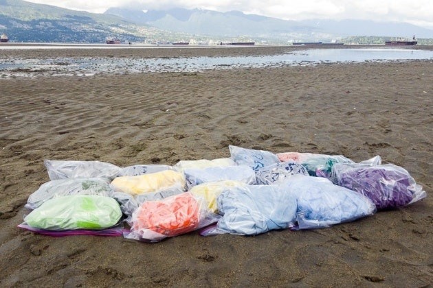
[(111, 7), (238, 10), (287, 20), (368, 19), (403, 21), (433, 29), (433, 0), (26, 0), (103, 13)]

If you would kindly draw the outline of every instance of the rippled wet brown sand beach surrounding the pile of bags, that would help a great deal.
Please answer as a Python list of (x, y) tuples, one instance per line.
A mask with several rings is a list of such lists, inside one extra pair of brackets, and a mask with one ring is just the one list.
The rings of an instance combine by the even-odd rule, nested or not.
[[(287, 48), (120, 49), (98, 56), (281, 49)], [(0, 286), (430, 287), (432, 79), (432, 60), (0, 79)], [(49, 180), (45, 159), (174, 165), (229, 157), (228, 145), (342, 154), (356, 162), (380, 155), (407, 169), (428, 196), (331, 228), (256, 237), (191, 232), (150, 244), (16, 228), (28, 213), (27, 197)]]

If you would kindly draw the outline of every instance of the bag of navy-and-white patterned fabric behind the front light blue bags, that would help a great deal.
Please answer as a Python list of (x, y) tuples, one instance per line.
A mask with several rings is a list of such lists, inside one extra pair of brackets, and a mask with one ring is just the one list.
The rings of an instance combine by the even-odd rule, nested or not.
[(305, 169), (304, 166), (289, 160), (258, 169), (256, 171), (256, 180), (257, 184), (278, 184), (278, 182), (296, 174), (305, 176), (309, 175), (307, 169)]

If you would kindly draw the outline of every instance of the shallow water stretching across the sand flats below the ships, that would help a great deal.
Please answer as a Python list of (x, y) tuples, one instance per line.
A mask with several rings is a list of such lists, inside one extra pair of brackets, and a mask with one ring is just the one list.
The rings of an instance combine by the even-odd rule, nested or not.
[[(12, 46), (9, 49), (89, 49), (80, 46)], [(95, 46), (101, 49), (101, 46)], [(124, 47), (123, 47), (124, 48)], [(149, 49), (135, 47), (135, 49)], [(132, 48), (134, 49), (134, 48)], [(164, 49), (153, 47), (151, 49)], [(3, 47), (0, 51), (6, 52)], [(433, 60), (433, 51), (414, 49), (307, 49), (271, 56), (227, 56), (188, 58), (3, 58), (0, 77), (32, 77), (35, 75), (96, 75), (100, 73), (170, 73), (200, 72), (215, 69), (307, 66), (322, 63), (387, 62)]]

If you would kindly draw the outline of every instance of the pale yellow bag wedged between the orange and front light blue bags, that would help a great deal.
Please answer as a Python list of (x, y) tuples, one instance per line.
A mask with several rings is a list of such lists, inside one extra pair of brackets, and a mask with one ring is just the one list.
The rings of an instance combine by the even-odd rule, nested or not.
[[(249, 169), (249, 167), (248, 167)], [(246, 187), (247, 184), (239, 181), (225, 180), (218, 182), (207, 182), (192, 187), (190, 193), (192, 195), (201, 196), (207, 202), (208, 208), (212, 213), (218, 213), (218, 204), (216, 198), (229, 187)]]

